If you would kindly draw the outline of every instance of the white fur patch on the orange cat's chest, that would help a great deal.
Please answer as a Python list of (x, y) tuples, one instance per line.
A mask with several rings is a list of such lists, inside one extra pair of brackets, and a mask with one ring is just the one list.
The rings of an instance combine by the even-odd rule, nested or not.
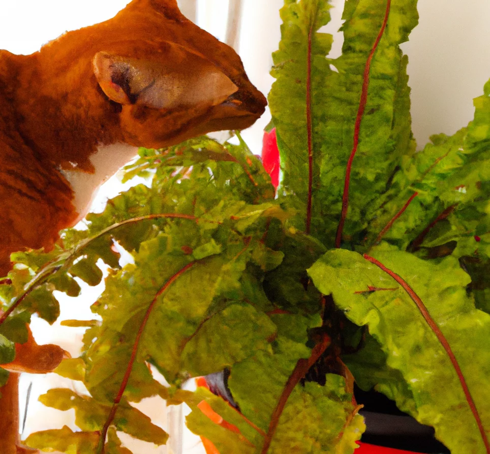
[(132, 145), (103, 145), (90, 157), (95, 168), (93, 174), (82, 172), (76, 167), (61, 171), (74, 192), (72, 203), (78, 212), (75, 223), (85, 217), (100, 186), (137, 154), (138, 148)]

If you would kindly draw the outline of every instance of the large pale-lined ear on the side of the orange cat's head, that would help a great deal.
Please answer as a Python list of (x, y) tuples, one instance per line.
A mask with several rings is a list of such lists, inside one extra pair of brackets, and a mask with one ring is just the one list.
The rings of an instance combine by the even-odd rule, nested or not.
[(238, 87), (218, 67), (175, 44), (162, 62), (124, 58), (107, 52), (94, 57), (94, 72), (106, 96), (119, 104), (171, 110), (211, 107)]

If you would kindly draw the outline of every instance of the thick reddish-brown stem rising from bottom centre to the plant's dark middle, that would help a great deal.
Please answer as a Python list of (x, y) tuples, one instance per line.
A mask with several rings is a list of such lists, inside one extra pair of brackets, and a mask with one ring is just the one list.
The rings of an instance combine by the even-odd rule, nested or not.
[(310, 358), (304, 359), (301, 358), (296, 363), (293, 372), (288, 378), (286, 382), (286, 386), (283, 389), (281, 397), (279, 398), (278, 405), (275, 407), (274, 412), (270, 418), (269, 429), (267, 430), (267, 435), (264, 438), (264, 444), (262, 446), (261, 454), (266, 454), (269, 450), (270, 443), (272, 442), (272, 438), (275, 434), (275, 429), (278, 427), (279, 418), (283, 413), (284, 407), (288, 402), (289, 396), (293, 392), (293, 389), (299, 383), (299, 381), (305, 376), (305, 374), (310, 370), (310, 367), (315, 364), (315, 362), (320, 358), (323, 352), (326, 350), (328, 345), (330, 344), (330, 337), (324, 334), (321, 342), (319, 342), (312, 350), (312, 354)]

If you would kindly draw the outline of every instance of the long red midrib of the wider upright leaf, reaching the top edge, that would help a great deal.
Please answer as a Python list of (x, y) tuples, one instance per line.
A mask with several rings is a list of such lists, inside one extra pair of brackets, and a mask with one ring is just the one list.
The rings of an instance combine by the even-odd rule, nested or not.
[(352, 161), (354, 160), (354, 156), (357, 152), (357, 147), (359, 145), (359, 132), (361, 128), (361, 121), (364, 115), (364, 109), (367, 103), (367, 89), (369, 88), (369, 72), (371, 70), (371, 61), (373, 60), (374, 53), (376, 52), (376, 48), (378, 47), (379, 42), (381, 41), (381, 37), (383, 36), (384, 30), (386, 28), (386, 24), (388, 23), (388, 16), (391, 7), (391, 0), (387, 0), (386, 2), (386, 12), (383, 20), (383, 24), (381, 25), (381, 29), (378, 33), (378, 37), (374, 42), (373, 48), (369, 56), (367, 57), (366, 66), (364, 67), (364, 75), (362, 80), (362, 90), (361, 90), (361, 99), (359, 101), (359, 108), (357, 110), (357, 117), (354, 124), (354, 142), (352, 145), (351, 155), (349, 156), (349, 160), (347, 161), (346, 167), (346, 176), (344, 181), (344, 193), (342, 195), (342, 213), (339, 221), (339, 227), (337, 229), (337, 235), (335, 238), (335, 247), (339, 248), (342, 243), (342, 232), (344, 230), (345, 219), (347, 216), (347, 209), (349, 207), (349, 185), (351, 179), (351, 170), (352, 170)]

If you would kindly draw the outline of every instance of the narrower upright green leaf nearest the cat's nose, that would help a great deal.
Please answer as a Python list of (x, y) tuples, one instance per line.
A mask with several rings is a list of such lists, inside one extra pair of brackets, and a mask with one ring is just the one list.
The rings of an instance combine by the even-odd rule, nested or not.
[[(298, 198), (295, 206), (300, 208), (297, 224), (301, 230), (304, 230), (308, 200), (307, 118), (311, 116), (318, 122), (322, 116), (322, 87), (331, 72), (325, 55), (330, 50), (332, 36), (317, 33), (330, 20), (329, 9), (327, 0), (286, 1), (281, 9), (283, 24), (279, 50), (272, 55), (274, 67), (271, 74), (277, 80), (272, 84), (268, 101), (281, 152), (282, 188)], [(308, 72), (309, 65), (311, 72)], [(311, 105), (307, 105), (308, 84), (311, 84)], [(315, 134), (314, 185), (318, 185), (320, 173), (319, 139)]]

